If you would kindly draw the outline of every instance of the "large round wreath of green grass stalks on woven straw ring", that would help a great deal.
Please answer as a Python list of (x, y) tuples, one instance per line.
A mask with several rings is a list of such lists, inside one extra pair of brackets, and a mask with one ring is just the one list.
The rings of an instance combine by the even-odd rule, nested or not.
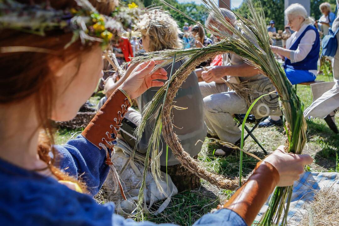
[[(288, 152), (300, 154), (305, 145), (307, 126), (303, 117), (304, 105), (297, 96), (294, 87), (287, 80), (283, 68), (275, 60), (275, 56), (271, 51), (262, 7), (260, 6), (255, 8), (253, 1), (248, 0), (247, 4), (250, 9), (250, 15), (247, 19), (240, 15), (236, 15), (239, 18), (239, 23), (236, 24), (238, 28), (235, 28), (225, 20), (219, 7), (214, 1), (202, 1), (206, 6), (206, 12), (212, 13), (214, 15), (213, 19), (219, 21), (234, 35), (230, 35), (227, 32), (220, 30), (219, 27), (214, 26), (213, 29), (215, 32), (211, 33), (221, 37), (222, 40), (213, 45), (203, 48), (151, 52), (133, 59), (133, 62), (155, 60), (158, 62), (158, 65), (154, 70), (171, 63), (173, 64), (181, 59), (187, 59), (174, 74), (173, 71), (171, 72), (168, 81), (158, 90), (152, 101), (145, 106), (145, 109), (142, 112), (141, 124), (137, 129), (136, 135), (140, 138), (145, 128), (146, 121), (152, 118), (155, 119), (154, 132), (149, 140), (146, 152), (144, 177), (148, 170), (147, 166), (149, 166), (149, 154), (152, 151), (152, 160), (150, 164), (151, 173), (156, 183), (158, 183), (158, 179), (160, 179), (159, 157), (161, 155), (161, 149), (159, 149), (159, 143), (160, 134), (162, 132), (166, 144), (172, 149), (174, 155), (186, 169), (220, 188), (235, 189), (239, 186), (237, 179), (226, 178), (222, 175), (216, 174), (215, 172), (207, 171), (198, 160), (191, 158), (190, 155), (184, 151), (177, 135), (173, 131), (171, 109), (172, 107), (176, 107), (173, 105), (173, 99), (188, 75), (190, 75), (195, 67), (201, 62), (218, 54), (224, 53), (237, 54), (244, 58), (248, 63), (261, 69), (263, 74), (267, 76), (276, 87), (277, 93), (282, 102), (282, 111), (285, 117), (284, 128), (287, 135), (286, 146)], [(162, 1), (162, 3), (173, 8), (178, 13), (182, 13), (165, 1)], [(251, 37), (254, 40), (250, 40), (248, 37)], [(232, 84), (226, 83), (226, 85), (231, 86)], [(238, 95), (245, 95), (242, 93), (244, 91), (242, 88), (233, 87), (233, 89)], [(142, 188), (144, 186), (145, 183), (143, 181), (139, 192), (139, 200), (143, 199)], [(158, 187), (161, 190), (161, 187)], [(274, 222), (278, 223), (280, 219), (282, 219), (282, 224), (286, 225), (291, 195), (292, 186), (277, 187), (273, 192), (269, 208), (260, 221), (260, 225), (271, 225)], [(284, 205), (279, 205), (280, 203), (287, 203), (287, 205), (285, 207)], [(283, 211), (284, 214), (282, 214)]]

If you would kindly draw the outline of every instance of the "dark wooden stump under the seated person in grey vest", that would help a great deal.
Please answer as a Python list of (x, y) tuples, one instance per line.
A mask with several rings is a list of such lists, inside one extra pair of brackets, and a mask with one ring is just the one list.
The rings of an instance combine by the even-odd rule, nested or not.
[[(193, 158), (197, 159), (198, 156)], [(160, 170), (166, 172), (166, 166), (161, 166)], [(178, 188), (178, 192), (192, 190), (200, 186), (200, 178), (185, 169), (181, 164), (167, 166), (167, 174), (171, 176), (173, 183)]]

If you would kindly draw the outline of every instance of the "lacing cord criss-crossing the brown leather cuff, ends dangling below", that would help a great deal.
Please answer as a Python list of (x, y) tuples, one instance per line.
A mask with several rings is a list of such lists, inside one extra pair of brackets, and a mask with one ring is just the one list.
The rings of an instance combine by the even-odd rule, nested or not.
[[(109, 128), (112, 129), (111, 132), (107, 131), (105, 135), (107, 138), (102, 138), (102, 143), (99, 143), (99, 147), (104, 149), (106, 151), (106, 160), (105, 163), (112, 169), (113, 175), (114, 175), (114, 181), (115, 184), (119, 186), (121, 196), (124, 200), (126, 199), (126, 196), (124, 194), (124, 190), (122, 188), (119, 175), (117, 173), (117, 170), (114, 167), (114, 164), (111, 159), (111, 153), (113, 151), (114, 153), (114, 145), (116, 144), (115, 140), (117, 139), (117, 132), (120, 131), (120, 127), (122, 126), (121, 121), (125, 117), (126, 112), (128, 111), (128, 107), (131, 106), (129, 103), (128, 98), (125, 98), (125, 103), (121, 105), (121, 111), (118, 111), (118, 118), (114, 118), (113, 121), (116, 123), (116, 125), (110, 125)], [(118, 190), (118, 186), (115, 187), (115, 192)]]

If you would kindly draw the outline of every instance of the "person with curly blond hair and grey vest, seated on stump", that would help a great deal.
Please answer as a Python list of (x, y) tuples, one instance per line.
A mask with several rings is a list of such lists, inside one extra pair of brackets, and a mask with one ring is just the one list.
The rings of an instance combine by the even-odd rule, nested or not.
[[(155, 9), (141, 16), (137, 24), (141, 37), (138, 39), (139, 43), (143, 45), (146, 52), (159, 51), (164, 49), (182, 48), (182, 40), (179, 38), (180, 33), (177, 22), (167, 13)], [(185, 61), (180, 60), (173, 65), (175, 72)], [(170, 75), (172, 65), (166, 66), (167, 75)], [(144, 106), (152, 100), (157, 92), (157, 88), (148, 89), (144, 94), (138, 98), (138, 107), (142, 111)], [(173, 109), (175, 132), (181, 140), (181, 144), (185, 150), (190, 153), (191, 157), (196, 157), (201, 150), (202, 143), (198, 140), (204, 140), (207, 128), (204, 123), (202, 96), (199, 90), (198, 79), (193, 72), (188, 76), (186, 81), (179, 89), (176, 98), (174, 99), (176, 106), (187, 107), (186, 110)], [(138, 144), (128, 135), (133, 134), (135, 126), (140, 122), (141, 115), (139, 112), (130, 108), (125, 115), (125, 119), (131, 123), (123, 124), (121, 135), (126, 142), (132, 147), (136, 146), (136, 150), (141, 153), (146, 153), (148, 147), (148, 140), (153, 132), (154, 121), (149, 120), (143, 136)], [(123, 132), (125, 131), (125, 132)], [(200, 185), (199, 178), (186, 170), (183, 170), (175, 158), (172, 150), (168, 149), (166, 161), (166, 145), (162, 137), (162, 155), (160, 156), (161, 169), (166, 171), (171, 176), (172, 181), (177, 186), (179, 192), (182, 190), (193, 189)], [(187, 183), (190, 181), (190, 183)]]

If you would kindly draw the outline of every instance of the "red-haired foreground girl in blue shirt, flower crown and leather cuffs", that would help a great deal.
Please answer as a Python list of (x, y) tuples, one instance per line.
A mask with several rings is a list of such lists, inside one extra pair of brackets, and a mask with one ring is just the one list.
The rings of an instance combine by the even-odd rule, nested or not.
[[(99, 205), (93, 196), (113, 169), (110, 152), (131, 98), (162, 86), (159, 80), (167, 79), (163, 68), (152, 73), (153, 60), (129, 66), (128, 78), (81, 135), (64, 146), (53, 145), (49, 122), (72, 119), (92, 95), (102, 77), (102, 49), (115, 38), (109, 30), (118, 28), (105, 16), (116, 1), (91, 0), (94, 6), (77, 2), (50, 1), (45, 7), (44, 0), (0, 1), (1, 225), (154, 226), (124, 219), (115, 214), (114, 203)], [(46, 21), (53, 23), (48, 26)], [(81, 26), (73, 23), (77, 21)], [(88, 29), (95, 24), (103, 27)], [(77, 39), (85, 31), (87, 36)], [(258, 163), (230, 201), (203, 215), (195, 226), (251, 225), (274, 187), (292, 185), (311, 162), (308, 155), (278, 147)]]

